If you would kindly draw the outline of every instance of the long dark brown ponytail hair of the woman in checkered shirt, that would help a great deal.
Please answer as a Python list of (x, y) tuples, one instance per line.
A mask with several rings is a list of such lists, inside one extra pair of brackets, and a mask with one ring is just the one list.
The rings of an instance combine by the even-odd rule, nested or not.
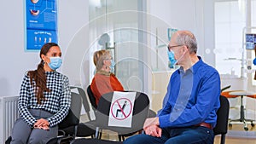
[[(30, 83), (35, 88), (35, 93), (37, 96), (38, 104), (45, 100), (44, 91), (50, 92), (50, 89), (46, 87), (46, 75), (44, 71), (44, 60), (42, 60), (41, 55), (46, 55), (49, 49), (53, 46), (59, 46), (57, 43), (45, 43), (40, 51), (41, 62), (38, 64), (38, 69), (35, 71), (29, 71), (28, 76), (30, 78)], [(33, 84), (33, 80), (35, 84)]]

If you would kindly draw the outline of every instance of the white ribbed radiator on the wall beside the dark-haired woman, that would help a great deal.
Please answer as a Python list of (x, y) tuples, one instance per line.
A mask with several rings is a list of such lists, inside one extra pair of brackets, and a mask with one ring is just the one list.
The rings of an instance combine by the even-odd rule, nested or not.
[(9, 137), (15, 120), (19, 118), (18, 99), (19, 96), (0, 97), (0, 143)]

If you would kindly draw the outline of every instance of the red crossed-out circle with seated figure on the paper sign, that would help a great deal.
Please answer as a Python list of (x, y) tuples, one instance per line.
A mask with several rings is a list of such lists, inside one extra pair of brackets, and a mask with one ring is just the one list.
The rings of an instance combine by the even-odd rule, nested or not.
[[(120, 103), (124, 103), (124, 104), (121, 106)], [(115, 105), (117, 105), (119, 108), (118, 109), (114, 108), (113, 106)], [(128, 111), (124, 111), (126, 108), (128, 109)], [(132, 103), (127, 98), (117, 99), (116, 101), (113, 101), (113, 104), (111, 106), (111, 114), (113, 118), (116, 118), (118, 120), (124, 120), (125, 118), (128, 118), (131, 115), (131, 110), (132, 110)], [(124, 118), (119, 118), (118, 112), (121, 112), (124, 115)]]

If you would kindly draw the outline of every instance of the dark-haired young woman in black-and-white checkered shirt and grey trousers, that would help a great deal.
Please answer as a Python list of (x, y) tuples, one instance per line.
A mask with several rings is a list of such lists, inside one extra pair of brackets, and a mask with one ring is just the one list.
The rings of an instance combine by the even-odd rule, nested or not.
[(38, 69), (28, 71), (20, 87), (20, 118), (12, 130), (11, 144), (43, 144), (58, 135), (57, 124), (67, 116), (71, 103), (68, 78), (56, 72), (61, 66), (61, 49), (45, 43)]

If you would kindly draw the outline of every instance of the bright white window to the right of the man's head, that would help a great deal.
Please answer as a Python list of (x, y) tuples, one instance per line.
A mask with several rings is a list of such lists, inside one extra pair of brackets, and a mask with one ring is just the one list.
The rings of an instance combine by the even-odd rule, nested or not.
[(216, 68), (221, 74), (240, 77), (245, 14), (239, 9), (238, 1), (216, 2), (214, 11)]

